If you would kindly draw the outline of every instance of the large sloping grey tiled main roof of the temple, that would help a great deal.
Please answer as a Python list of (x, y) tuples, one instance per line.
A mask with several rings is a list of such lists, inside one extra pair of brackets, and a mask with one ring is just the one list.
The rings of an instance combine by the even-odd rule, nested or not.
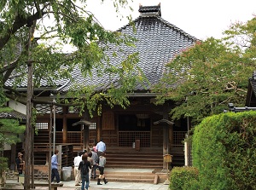
[[(119, 32), (136, 37), (136, 47), (123, 45), (121, 48), (124, 49), (126, 55), (136, 52), (139, 53), (138, 66), (143, 70), (150, 83), (146, 87), (137, 85), (134, 90), (149, 90), (151, 85), (159, 82), (163, 76), (163, 72), (166, 72), (166, 63), (172, 60), (175, 55), (180, 54), (182, 50), (195, 44), (197, 39), (183, 32), (177, 26), (163, 20), (160, 16), (140, 16), (134, 20), (134, 23), (137, 29), (136, 33), (133, 32), (133, 26), (129, 24), (120, 28)], [(117, 57), (113, 57), (113, 50), (118, 48), (110, 44), (110, 49), (112, 50), (108, 50), (107, 55), (110, 56), (110, 63), (115, 66), (124, 59), (123, 54), (119, 53)], [(79, 69), (73, 73), (73, 76), (75, 83), (101, 85), (98, 89), (105, 89), (114, 79), (117, 80), (117, 78), (108, 78), (108, 76), (99, 78), (96, 76), (96, 71), (93, 72), (92, 78), (83, 78)], [(69, 83), (61, 91), (65, 92), (72, 86), (73, 83)]]

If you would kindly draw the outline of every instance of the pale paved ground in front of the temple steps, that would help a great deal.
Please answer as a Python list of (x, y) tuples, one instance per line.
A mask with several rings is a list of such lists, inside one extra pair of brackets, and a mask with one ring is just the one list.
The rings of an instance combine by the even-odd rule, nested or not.
[[(35, 182), (42, 182), (42, 181), (35, 181)], [(6, 185), (10, 186), (13, 185), (14, 188), (19, 188), (21, 186), (20, 183), (18, 183), (15, 180), (7, 180)], [(153, 183), (143, 183), (143, 182), (119, 182), (119, 181), (109, 181), (107, 184), (104, 184), (102, 181), (102, 186), (97, 185), (96, 181), (90, 181), (90, 187), (89, 190), (100, 190), (100, 189), (115, 189), (115, 190), (168, 190), (168, 185), (164, 185), (163, 183), (159, 183), (154, 185)], [(49, 189), (48, 187), (36, 187), (36, 189), (46, 190)], [(63, 187), (58, 187), (59, 190), (80, 190), (81, 187), (75, 186), (74, 181), (63, 181)]]

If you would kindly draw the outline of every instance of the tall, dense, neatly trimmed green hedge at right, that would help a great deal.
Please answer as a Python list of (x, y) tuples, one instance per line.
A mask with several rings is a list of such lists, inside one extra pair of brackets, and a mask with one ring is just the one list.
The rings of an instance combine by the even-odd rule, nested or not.
[(193, 135), (200, 189), (256, 189), (256, 112), (203, 119)]

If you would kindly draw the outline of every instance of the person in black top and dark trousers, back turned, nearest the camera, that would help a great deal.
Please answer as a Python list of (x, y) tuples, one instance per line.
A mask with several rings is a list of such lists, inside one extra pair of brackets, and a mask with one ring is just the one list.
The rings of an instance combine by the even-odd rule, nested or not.
[(81, 190), (84, 190), (84, 183), (85, 189), (88, 190), (89, 187), (89, 169), (91, 170), (90, 161), (87, 160), (88, 155), (86, 153), (82, 156), (82, 161), (79, 163), (79, 170), (81, 172), (81, 179), (82, 179), (82, 186)]

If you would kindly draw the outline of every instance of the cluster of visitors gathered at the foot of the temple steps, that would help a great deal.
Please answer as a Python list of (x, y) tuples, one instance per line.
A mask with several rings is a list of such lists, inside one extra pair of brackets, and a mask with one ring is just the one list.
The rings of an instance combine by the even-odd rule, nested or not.
[[(96, 179), (96, 170), (100, 171), (100, 175), (97, 179), (97, 185), (102, 185), (101, 180), (105, 184), (108, 183), (104, 176), (104, 167), (106, 164), (105, 158), (106, 145), (101, 140), (96, 144), (96, 147), (93, 147), (90, 150), (90, 153), (86, 151), (79, 152), (78, 156), (74, 158), (74, 176), (75, 176), (75, 185), (80, 186), (79, 181), (81, 179), (81, 190), (87, 190), (90, 184), (90, 179)], [(90, 178), (89, 178), (90, 176)]]

